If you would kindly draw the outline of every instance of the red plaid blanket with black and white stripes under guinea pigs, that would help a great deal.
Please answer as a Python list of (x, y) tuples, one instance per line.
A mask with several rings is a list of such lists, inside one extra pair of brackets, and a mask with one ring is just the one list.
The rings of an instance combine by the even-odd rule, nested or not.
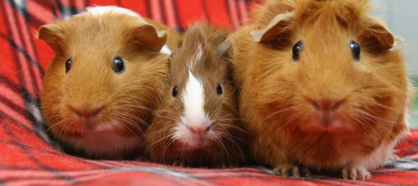
[(369, 181), (281, 178), (262, 167), (173, 168), (140, 161), (92, 161), (62, 153), (43, 132), (39, 104), (52, 50), (33, 33), (87, 5), (119, 5), (182, 31), (194, 20), (231, 29), (247, 21), (245, 0), (0, 0), (0, 186), (20, 185), (413, 185), (418, 184), (418, 133), (398, 146), (398, 161)]

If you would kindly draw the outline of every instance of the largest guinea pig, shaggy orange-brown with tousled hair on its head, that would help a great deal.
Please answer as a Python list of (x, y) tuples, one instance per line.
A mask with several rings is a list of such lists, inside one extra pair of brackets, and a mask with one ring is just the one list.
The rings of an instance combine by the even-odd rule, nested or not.
[(269, 0), (231, 36), (258, 163), (282, 176), (309, 168), (364, 180), (393, 157), (412, 94), (405, 57), (392, 49), (401, 38), (371, 9), (367, 0)]

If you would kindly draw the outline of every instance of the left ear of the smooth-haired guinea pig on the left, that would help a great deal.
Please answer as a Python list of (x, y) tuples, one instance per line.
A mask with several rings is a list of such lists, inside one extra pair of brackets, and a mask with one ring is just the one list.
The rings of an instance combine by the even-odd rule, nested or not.
[(55, 52), (61, 51), (61, 45), (64, 41), (64, 31), (57, 24), (42, 25), (38, 29), (36, 38), (45, 41)]

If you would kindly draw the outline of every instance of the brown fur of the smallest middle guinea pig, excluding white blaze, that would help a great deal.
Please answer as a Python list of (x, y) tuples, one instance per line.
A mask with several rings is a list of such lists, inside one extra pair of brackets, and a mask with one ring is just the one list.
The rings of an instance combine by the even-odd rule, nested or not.
[[(240, 115), (237, 111), (237, 95), (230, 64), (226, 59), (228, 51), (224, 51), (228, 48), (218, 50), (227, 34), (226, 30), (196, 24), (186, 31), (182, 47), (173, 52), (171, 85), (166, 89), (166, 96), (158, 107), (158, 116), (155, 116), (151, 127), (145, 133), (148, 138), (147, 153), (152, 161), (167, 164), (179, 161), (184, 162), (186, 166), (219, 167), (222, 164), (237, 166), (246, 159), (246, 134), (241, 129)], [(182, 144), (174, 141), (170, 135), (173, 134), (174, 127), (181, 122), (180, 116), (184, 111), (181, 95), (189, 76), (188, 66), (199, 51), (199, 44), (203, 49), (202, 58), (194, 62), (191, 73), (203, 79), (206, 96), (204, 110), (216, 120), (212, 130), (223, 137), (219, 141), (210, 141), (208, 146), (184, 150)], [(217, 95), (217, 83), (222, 85), (222, 95)], [(171, 96), (174, 85), (178, 86), (176, 98)]]

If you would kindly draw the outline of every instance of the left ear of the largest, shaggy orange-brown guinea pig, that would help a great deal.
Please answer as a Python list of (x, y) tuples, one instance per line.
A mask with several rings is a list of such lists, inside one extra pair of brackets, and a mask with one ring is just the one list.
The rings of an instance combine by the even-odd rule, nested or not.
[(292, 23), (293, 15), (293, 12), (276, 15), (266, 28), (252, 31), (251, 37), (257, 42), (279, 39), (281, 35), (289, 31), (288, 26)]

